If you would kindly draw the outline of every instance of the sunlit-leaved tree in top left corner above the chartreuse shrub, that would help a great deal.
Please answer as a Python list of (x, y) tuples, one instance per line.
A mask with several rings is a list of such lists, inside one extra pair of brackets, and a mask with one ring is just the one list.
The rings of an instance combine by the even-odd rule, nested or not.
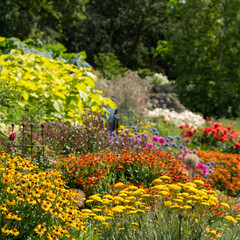
[(54, 42), (67, 38), (69, 28), (85, 19), (88, 0), (0, 1), (0, 35)]

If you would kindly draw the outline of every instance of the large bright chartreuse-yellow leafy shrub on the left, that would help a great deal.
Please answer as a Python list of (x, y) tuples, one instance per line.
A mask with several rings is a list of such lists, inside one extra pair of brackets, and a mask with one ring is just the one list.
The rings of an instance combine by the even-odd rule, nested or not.
[[(8, 121), (47, 117), (80, 120), (85, 108), (93, 112), (115, 107), (94, 90), (90, 69), (78, 69), (61, 60), (12, 50), (0, 56), (0, 106)], [(38, 119), (39, 120), (39, 119)]]

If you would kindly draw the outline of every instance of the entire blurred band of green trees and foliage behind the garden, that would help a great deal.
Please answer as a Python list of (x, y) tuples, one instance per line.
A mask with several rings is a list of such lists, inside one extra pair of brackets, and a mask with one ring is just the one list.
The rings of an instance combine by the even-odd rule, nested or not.
[(6, 0), (0, 36), (89, 63), (100, 78), (124, 76), (126, 68), (141, 77), (162, 73), (188, 109), (234, 118), (240, 116), (239, 6), (240, 0)]

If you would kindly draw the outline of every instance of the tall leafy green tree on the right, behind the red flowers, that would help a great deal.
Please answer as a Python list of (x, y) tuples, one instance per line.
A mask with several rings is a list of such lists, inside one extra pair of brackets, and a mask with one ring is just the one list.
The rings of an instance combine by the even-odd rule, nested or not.
[(239, 6), (240, 0), (169, 1), (168, 51), (160, 43), (158, 54), (169, 54), (183, 104), (205, 116), (240, 115)]

